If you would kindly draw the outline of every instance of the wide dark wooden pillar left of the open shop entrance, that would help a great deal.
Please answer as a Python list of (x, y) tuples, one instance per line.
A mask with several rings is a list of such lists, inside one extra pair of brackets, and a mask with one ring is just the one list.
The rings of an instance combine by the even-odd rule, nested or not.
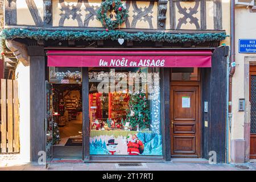
[[(38, 152), (45, 151), (44, 131), (46, 105), (46, 61), (43, 46), (29, 46), (30, 53), (30, 151), (31, 161), (38, 161)], [(37, 53), (33, 56), (32, 53)]]

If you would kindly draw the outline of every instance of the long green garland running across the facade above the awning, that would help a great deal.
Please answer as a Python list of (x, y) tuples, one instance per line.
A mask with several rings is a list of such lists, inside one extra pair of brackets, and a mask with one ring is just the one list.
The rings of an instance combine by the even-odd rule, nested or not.
[(32, 31), (22, 28), (4, 29), (0, 32), (1, 53), (5, 52), (5, 40), (15, 38), (34, 40), (118, 40), (123, 38), (127, 41), (138, 42), (168, 42), (168, 43), (204, 43), (224, 40), (228, 35), (225, 32), (203, 33), (203, 34), (171, 34), (167, 32), (156, 32), (147, 34), (144, 32), (128, 33), (119, 30), (110, 31)]

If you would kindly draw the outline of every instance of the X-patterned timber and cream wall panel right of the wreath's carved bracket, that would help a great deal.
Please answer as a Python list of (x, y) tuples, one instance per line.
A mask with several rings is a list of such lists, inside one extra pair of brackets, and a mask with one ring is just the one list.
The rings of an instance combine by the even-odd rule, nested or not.
[[(171, 29), (222, 30), (221, 6), (221, 0), (170, 0), (170, 27)], [(213, 19), (212, 22), (210, 18)]]

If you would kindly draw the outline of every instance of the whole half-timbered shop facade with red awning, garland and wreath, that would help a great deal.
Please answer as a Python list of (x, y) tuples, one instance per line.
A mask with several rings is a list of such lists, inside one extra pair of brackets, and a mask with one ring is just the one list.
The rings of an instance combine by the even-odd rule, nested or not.
[[(103, 26), (98, 18), (103, 2), (5, 0), (2, 38), (7, 46), (4, 52), (13, 52), (18, 60), (15, 79), (19, 82), (20, 125), (23, 129), (27, 126), (30, 136), (22, 142), (29, 143), (29, 149), (21, 151), (27, 159), (38, 161), (43, 155), (40, 151), (48, 150), (47, 156), (49, 153), (53, 158), (84, 161), (209, 159), (209, 155), (216, 154), (217, 162), (227, 162), (229, 49), (225, 44), (229, 44), (229, 1), (122, 1), (118, 10), (107, 13), (115, 21), (118, 11), (127, 10), (127, 18), (115, 28)], [(110, 9), (115, 9), (114, 3)], [(127, 62), (113, 63), (123, 57)], [(67, 75), (54, 77), (55, 73), (59, 76), (68, 71), (77, 73), (74, 82)], [(104, 84), (99, 81), (103, 79), (101, 73), (107, 75), (107, 92), (105, 87), (99, 91), (99, 85)], [(119, 92), (116, 85), (120, 84), (121, 73), (125, 76)], [(142, 79), (137, 80), (137, 95), (127, 91), (131, 73)], [(146, 90), (154, 82), (154, 89), (146, 93), (142, 91), (142, 73), (146, 75)], [(137, 76), (133, 79), (131, 92), (136, 89)], [(57, 146), (49, 144), (56, 136), (52, 134), (54, 128), (49, 130), (47, 126), (53, 127), (56, 122), (64, 132), (72, 125), (58, 122), (65, 120), (67, 102), (71, 100), (66, 96), (72, 97), (75, 92), (71, 91), (76, 89), (81, 98), (77, 103), (82, 106), (67, 111), (71, 117), (76, 112), (77, 121), (81, 120), (81, 150), (74, 149), (77, 155), (73, 156), (67, 154), (67, 148), (60, 148), (61, 142)], [(135, 103), (137, 99), (143, 100), (142, 105), (140, 101)], [(134, 146), (133, 139), (142, 144)], [(70, 141), (69, 136), (63, 147)]]

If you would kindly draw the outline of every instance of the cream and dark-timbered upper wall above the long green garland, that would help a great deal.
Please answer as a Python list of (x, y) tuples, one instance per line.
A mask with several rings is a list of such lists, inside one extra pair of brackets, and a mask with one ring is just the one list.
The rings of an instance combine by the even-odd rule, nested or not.
[[(102, 28), (97, 20), (101, 0), (52, 0), (52, 21), (44, 22), (43, 0), (6, 0), (6, 26)], [(123, 1), (129, 18), (121, 28), (157, 30), (159, 2)], [(229, 0), (167, 1), (165, 30), (223, 30), (229, 17)], [(11, 6), (11, 8), (9, 7)], [(26, 18), (23, 18), (26, 17)], [(223, 20), (222, 20), (223, 19)], [(225, 30), (225, 29), (224, 29)]]

